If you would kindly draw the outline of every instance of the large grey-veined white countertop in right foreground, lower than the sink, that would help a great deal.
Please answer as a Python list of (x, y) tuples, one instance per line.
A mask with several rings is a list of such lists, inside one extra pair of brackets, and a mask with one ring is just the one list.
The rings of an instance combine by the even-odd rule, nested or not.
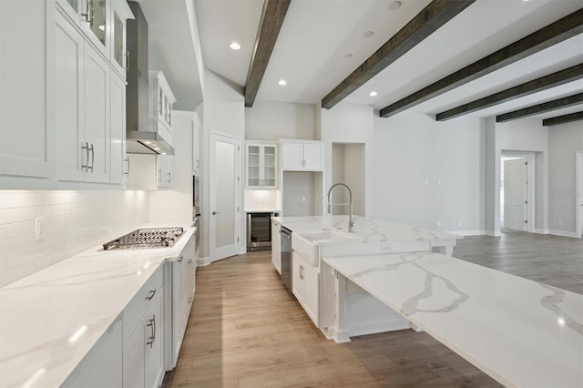
[(583, 295), (437, 253), (322, 260), (506, 386), (583, 386)]

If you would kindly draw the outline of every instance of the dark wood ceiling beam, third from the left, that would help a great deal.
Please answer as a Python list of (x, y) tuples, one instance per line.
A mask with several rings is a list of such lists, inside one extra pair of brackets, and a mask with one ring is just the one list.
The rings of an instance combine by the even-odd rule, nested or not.
[(477, 60), (471, 65), (465, 66), (388, 107), (384, 107), (381, 109), (380, 116), (393, 116), (581, 33), (583, 33), (583, 8), (499, 49), (489, 56)]

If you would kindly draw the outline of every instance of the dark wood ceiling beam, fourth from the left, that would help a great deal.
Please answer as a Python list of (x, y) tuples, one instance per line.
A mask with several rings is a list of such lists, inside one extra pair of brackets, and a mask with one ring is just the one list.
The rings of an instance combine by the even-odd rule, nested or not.
[(545, 77), (539, 77), (524, 84), (517, 85), (516, 87), (510, 87), (493, 95), (476, 99), (475, 101), (468, 102), (459, 107), (451, 108), (435, 115), (435, 120), (445, 121), (451, 118), (464, 116), (476, 112), (477, 110), (485, 109), (486, 107), (494, 107), (495, 105), (502, 104), (506, 101), (525, 97), (533, 93), (550, 89), (551, 87), (558, 87), (580, 78), (583, 78), (583, 64), (571, 66)]

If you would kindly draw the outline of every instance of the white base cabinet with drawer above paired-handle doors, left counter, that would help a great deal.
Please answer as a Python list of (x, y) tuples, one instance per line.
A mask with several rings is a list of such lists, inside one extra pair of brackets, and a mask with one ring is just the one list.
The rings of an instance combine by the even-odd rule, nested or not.
[(162, 278), (163, 267), (160, 267), (124, 310), (124, 387), (153, 388), (159, 387), (162, 383), (164, 377)]

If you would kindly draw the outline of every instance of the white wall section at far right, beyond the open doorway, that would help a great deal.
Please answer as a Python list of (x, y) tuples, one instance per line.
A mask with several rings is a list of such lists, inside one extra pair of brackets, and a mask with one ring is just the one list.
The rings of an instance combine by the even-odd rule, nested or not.
[(581, 121), (548, 128), (548, 229), (575, 237), (575, 154), (583, 150)]

